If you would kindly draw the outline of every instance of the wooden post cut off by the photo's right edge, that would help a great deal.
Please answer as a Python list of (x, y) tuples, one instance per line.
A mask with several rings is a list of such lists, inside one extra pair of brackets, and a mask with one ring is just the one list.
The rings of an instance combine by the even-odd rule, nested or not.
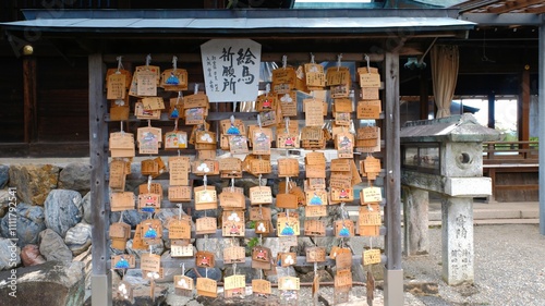
[[(542, 15), (542, 24), (540, 25), (540, 48), (537, 54), (543, 54), (545, 52), (545, 20)], [(538, 68), (538, 113), (541, 115), (545, 114), (545, 59), (540, 57), (540, 68)], [(540, 120), (538, 128), (540, 137), (540, 162), (545, 162), (545, 122)], [(540, 186), (545, 185), (545, 169), (540, 167)], [(545, 193), (540, 193), (540, 233), (545, 235)]]

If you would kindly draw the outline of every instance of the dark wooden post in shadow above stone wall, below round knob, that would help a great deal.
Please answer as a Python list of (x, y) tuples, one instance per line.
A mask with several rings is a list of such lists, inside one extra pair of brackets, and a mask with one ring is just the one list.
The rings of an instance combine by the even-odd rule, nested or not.
[(36, 97), (36, 58), (23, 58), (24, 142), (33, 143), (38, 137), (38, 103)]

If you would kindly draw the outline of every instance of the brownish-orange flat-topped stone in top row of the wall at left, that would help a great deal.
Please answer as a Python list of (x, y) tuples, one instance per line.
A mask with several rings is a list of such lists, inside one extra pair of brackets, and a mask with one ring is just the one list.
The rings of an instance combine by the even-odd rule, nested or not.
[(21, 201), (44, 205), (49, 192), (57, 188), (59, 171), (52, 164), (12, 164), (9, 185), (17, 188)]

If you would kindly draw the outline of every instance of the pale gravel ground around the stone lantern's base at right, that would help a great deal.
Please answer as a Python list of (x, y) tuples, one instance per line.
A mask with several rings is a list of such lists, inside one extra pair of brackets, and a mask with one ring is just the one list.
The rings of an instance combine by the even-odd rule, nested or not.
[(537, 224), (475, 225), (473, 284), (449, 286), (441, 279), (441, 229), (429, 229), (428, 256), (403, 258), (405, 279), (436, 282), (429, 306), (545, 305), (545, 236)]

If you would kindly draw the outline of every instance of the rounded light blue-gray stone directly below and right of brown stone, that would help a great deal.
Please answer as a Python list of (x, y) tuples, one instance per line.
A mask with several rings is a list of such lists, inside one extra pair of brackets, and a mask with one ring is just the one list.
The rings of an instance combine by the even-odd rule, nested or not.
[(64, 237), (83, 217), (82, 196), (75, 191), (55, 189), (45, 201), (46, 227)]

